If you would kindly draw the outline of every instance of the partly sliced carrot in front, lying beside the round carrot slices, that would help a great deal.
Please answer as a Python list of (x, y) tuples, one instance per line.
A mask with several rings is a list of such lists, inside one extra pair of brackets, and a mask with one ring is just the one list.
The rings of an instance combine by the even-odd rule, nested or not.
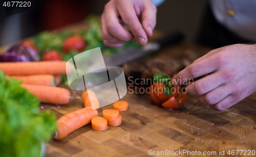
[(68, 113), (56, 121), (58, 128), (53, 135), (53, 138), (55, 140), (61, 140), (74, 132), (74, 130), (91, 123), (92, 118), (97, 116), (97, 110), (93, 110), (92, 107)]

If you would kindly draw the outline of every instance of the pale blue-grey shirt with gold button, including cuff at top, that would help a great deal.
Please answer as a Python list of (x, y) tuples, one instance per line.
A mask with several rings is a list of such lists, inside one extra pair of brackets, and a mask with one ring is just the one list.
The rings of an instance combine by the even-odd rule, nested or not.
[[(158, 6), (164, 0), (152, 0)], [(209, 0), (216, 20), (241, 38), (256, 42), (256, 0)]]

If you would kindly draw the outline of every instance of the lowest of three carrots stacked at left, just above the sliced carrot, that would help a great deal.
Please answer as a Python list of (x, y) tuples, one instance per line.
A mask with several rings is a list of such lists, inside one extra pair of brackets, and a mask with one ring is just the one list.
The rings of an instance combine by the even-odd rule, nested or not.
[(34, 94), (40, 102), (67, 104), (70, 101), (70, 91), (65, 88), (26, 84), (22, 84), (22, 87)]

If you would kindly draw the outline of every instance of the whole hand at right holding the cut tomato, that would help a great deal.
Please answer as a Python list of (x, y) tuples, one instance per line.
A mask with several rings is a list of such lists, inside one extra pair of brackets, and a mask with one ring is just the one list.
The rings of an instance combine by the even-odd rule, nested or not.
[(205, 74), (209, 75), (187, 85), (187, 92), (212, 109), (228, 109), (256, 90), (256, 44), (214, 49), (180, 71), (174, 84)]

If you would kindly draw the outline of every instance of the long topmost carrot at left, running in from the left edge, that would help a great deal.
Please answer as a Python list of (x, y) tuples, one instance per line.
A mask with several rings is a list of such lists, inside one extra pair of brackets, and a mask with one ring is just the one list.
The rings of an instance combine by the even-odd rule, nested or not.
[(44, 61), (44, 62), (5, 62), (0, 63), (0, 70), (6, 75), (33, 75), (33, 74), (60, 74), (71, 73), (71, 64), (65, 61)]

